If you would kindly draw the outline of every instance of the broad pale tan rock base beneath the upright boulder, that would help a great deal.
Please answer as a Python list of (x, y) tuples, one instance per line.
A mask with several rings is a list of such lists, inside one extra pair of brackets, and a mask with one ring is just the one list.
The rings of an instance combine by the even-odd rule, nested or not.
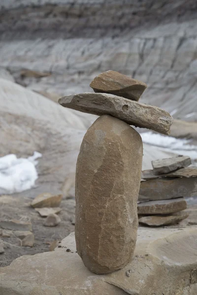
[(55, 251), (22, 256), (10, 266), (0, 267), (0, 294), (151, 295), (157, 291), (158, 295), (196, 295), (196, 240), (196, 226), (181, 231), (140, 227), (128, 265), (97, 275), (84, 266), (76, 253), (72, 233)]

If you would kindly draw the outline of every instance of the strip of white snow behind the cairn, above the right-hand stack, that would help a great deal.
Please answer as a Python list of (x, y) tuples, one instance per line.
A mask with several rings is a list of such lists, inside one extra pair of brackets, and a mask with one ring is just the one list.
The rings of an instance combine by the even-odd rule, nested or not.
[(190, 156), (194, 160), (197, 159), (197, 146), (191, 145), (191, 141), (188, 139), (174, 138), (159, 133), (152, 133), (151, 131), (141, 133), (140, 135), (143, 143), (160, 147), (165, 151)]

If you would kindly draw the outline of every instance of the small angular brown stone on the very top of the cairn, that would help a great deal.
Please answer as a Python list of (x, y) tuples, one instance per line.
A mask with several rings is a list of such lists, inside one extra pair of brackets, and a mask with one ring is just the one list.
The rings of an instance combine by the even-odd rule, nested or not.
[(106, 71), (91, 82), (95, 92), (111, 93), (138, 101), (147, 85), (116, 71)]

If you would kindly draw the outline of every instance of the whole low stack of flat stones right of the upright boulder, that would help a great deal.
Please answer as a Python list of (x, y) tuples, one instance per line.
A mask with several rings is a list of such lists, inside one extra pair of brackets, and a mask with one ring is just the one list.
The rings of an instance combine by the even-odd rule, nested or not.
[(152, 227), (176, 224), (188, 217), (184, 197), (197, 194), (197, 168), (191, 159), (178, 155), (152, 161), (153, 170), (142, 172), (139, 223)]

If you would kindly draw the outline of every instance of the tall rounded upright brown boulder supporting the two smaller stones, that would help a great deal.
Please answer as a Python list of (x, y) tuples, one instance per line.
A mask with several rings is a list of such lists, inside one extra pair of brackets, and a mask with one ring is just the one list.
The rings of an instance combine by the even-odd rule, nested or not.
[(124, 267), (137, 237), (142, 140), (125, 122), (101, 116), (88, 129), (76, 166), (77, 253), (91, 271)]

